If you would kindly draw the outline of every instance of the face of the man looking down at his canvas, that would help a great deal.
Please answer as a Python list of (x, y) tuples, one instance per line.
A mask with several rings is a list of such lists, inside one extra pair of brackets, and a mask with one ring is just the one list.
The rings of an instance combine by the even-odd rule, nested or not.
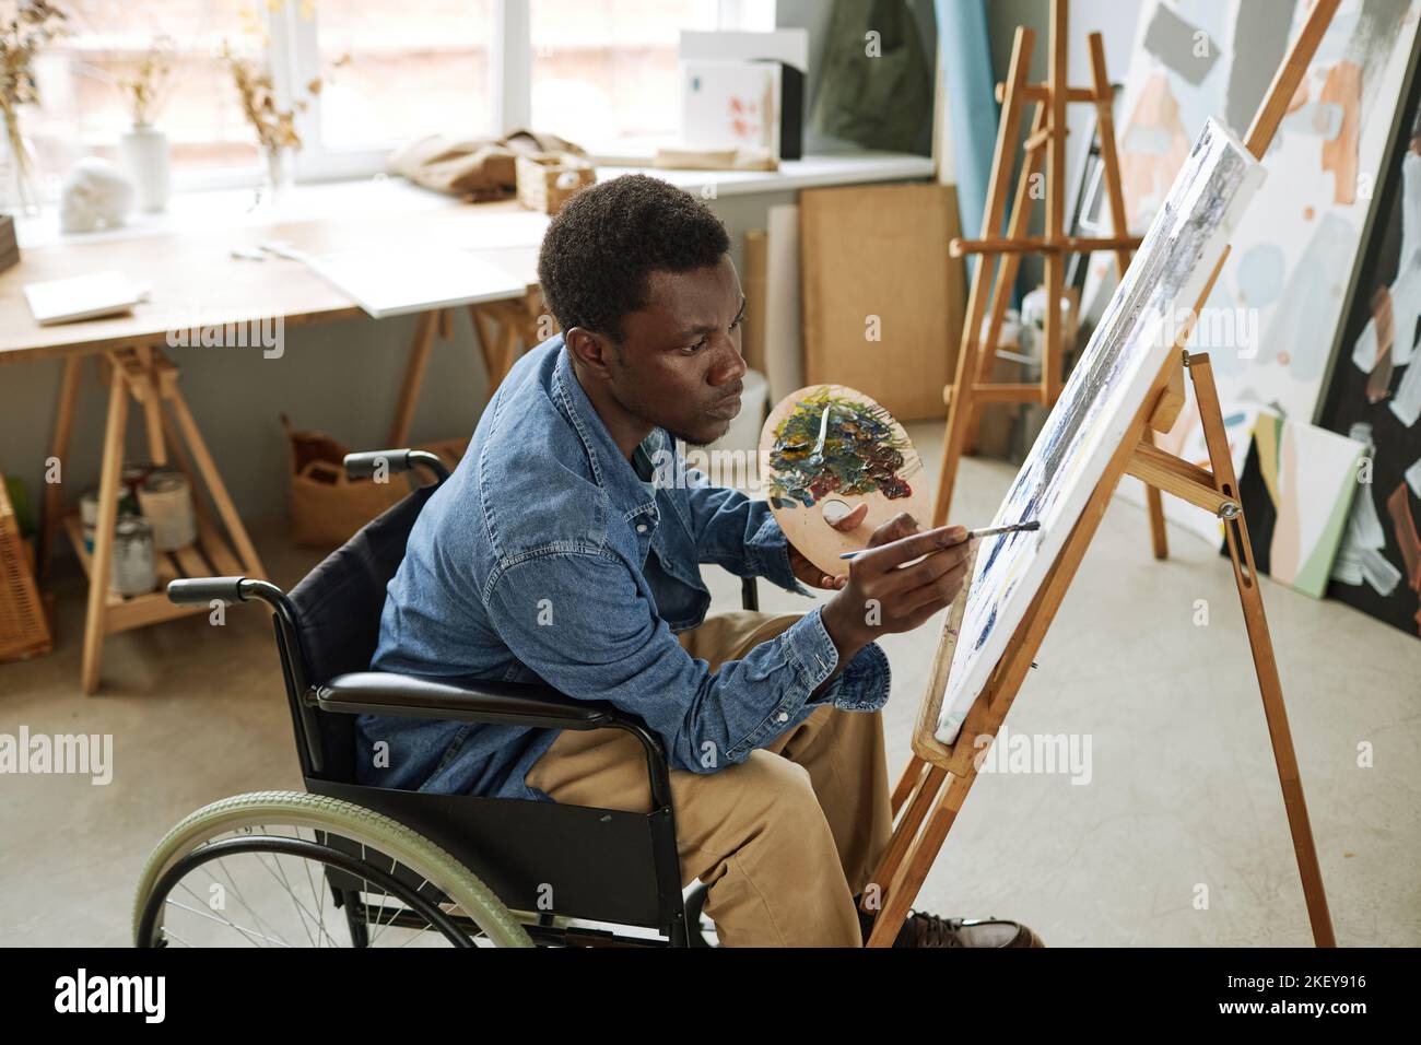
[(622, 318), (610, 391), (628, 414), (692, 446), (715, 442), (740, 412), (745, 294), (730, 257), (651, 274), (645, 309)]

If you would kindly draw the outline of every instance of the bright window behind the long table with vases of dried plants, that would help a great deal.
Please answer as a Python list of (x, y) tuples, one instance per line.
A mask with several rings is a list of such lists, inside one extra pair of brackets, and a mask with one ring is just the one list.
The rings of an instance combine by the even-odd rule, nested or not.
[[(41, 105), (21, 109), (54, 183), (82, 156), (117, 158), (131, 125), (119, 81), (155, 40), (172, 73), (152, 122), (178, 188), (254, 183), (261, 156), (225, 40), (264, 54), (297, 115), (298, 179), (384, 169), (391, 148), (433, 132), (531, 125), (594, 151), (675, 135), (678, 33), (772, 28), (774, 0), (61, 0), (70, 31), (40, 51)], [(264, 43), (261, 34), (266, 34)], [(337, 64), (350, 55), (345, 64)], [(318, 92), (307, 84), (321, 78)]]

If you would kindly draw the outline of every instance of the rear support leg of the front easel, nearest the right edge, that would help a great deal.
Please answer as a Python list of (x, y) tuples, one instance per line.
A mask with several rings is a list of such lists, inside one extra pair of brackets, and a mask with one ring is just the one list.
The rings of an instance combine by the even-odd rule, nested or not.
[[(1233, 458), (1229, 455), (1219, 395), (1214, 387), (1214, 370), (1206, 357), (1191, 360), (1189, 377), (1194, 380), (1194, 394), (1199, 402), (1199, 417), (1204, 419), (1204, 436), (1209, 446), (1214, 478), (1222, 493), (1236, 498), (1238, 479), (1233, 475)], [(1277, 782), (1283, 789), (1283, 806), (1287, 809), (1287, 827), (1293, 836), (1297, 873), (1303, 880), (1303, 899), (1307, 903), (1307, 918), (1313, 927), (1313, 941), (1319, 947), (1336, 947), (1337, 940), (1327, 909), (1327, 893), (1323, 887), (1322, 867), (1317, 863), (1317, 847), (1313, 843), (1312, 822), (1307, 818), (1307, 800), (1303, 798), (1303, 782), (1297, 769), (1297, 752), (1293, 749), (1293, 734), (1287, 725), (1287, 709), (1283, 707), (1283, 684), (1277, 675), (1277, 660), (1273, 655), (1273, 640), (1263, 614), (1263, 596), (1258, 589), (1253, 547), (1249, 543), (1243, 516), (1229, 520), (1225, 525), (1225, 535), (1229, 557), (1233, 560), (1233, 580), (1238, 584), (1239, 603), (1243, 607), (1243, 624), (1248, 628), (1248, 641), (1253, 651), (1253, 667), (1258, 671), (1258, 688), (1263, 697), (1268, 735), (1273, 742), (1273, 762), (1277, 765)]]

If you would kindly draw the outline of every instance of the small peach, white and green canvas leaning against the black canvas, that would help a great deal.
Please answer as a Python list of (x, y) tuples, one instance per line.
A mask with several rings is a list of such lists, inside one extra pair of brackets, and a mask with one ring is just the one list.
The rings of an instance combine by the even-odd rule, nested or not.
[(1238, 476), (1260, 572), (1323, 597), (1366, 458), (1356, 439), (1270, 411), (1258, 415)]

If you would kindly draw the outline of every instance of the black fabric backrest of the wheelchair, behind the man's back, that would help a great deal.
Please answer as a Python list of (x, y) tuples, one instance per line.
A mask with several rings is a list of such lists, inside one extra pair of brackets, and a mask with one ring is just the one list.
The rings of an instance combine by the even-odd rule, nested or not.
[[(310, 685), (369, 670), (379, 641), (385, 586), (399, 570), (415, 520), (438, 486), (422, 486), (377, 516), (291, 590), (296, 633)], [(355, 717), (317, 712), (321, 776), (355, 781)], [(297, 728), (297, 744), (301, 732)], [(303, 759), (303, 766), (307, 759)]]

